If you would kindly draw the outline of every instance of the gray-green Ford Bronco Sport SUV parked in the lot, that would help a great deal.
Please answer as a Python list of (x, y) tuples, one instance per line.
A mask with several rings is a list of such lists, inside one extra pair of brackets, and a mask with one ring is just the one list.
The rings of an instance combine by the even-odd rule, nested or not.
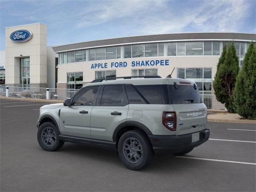
[(94, 80), (64, 104), (40, 108), (38, 142), (46, 151), (75, 142), (116, 150), (139, 170), (156, 155), (184, 155), (206, 142), (207, 111), (195, 82), (160, 76)]

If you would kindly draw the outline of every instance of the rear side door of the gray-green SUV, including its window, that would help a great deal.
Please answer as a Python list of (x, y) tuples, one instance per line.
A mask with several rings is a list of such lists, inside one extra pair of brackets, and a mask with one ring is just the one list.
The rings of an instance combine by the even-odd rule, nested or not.
[(105, 85), (91, 113), (91, 136), (94, 139), (112, 140), (115, 128), (126, 122), (128, 99), (124, 85)]

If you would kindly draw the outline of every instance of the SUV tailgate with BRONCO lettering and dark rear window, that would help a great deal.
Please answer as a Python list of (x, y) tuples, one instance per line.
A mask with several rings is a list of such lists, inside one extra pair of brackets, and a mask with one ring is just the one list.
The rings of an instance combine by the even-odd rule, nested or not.
[[(182, 84), (183, 83), (183, 84)], [(169, 85), (170, 102), (176, 112), (176, 135), (206, 129), (207, 110), (196, 85), (177, 82)]]

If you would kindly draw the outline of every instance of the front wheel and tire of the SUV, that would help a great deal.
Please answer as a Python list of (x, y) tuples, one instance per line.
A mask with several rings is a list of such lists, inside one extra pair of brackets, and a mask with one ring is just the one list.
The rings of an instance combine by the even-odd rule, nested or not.
[(43, 150), (56, 151), (64, 144), (59, 135), (58, 128), (52, 122), (45, 122), (38, 128), (37, 140)]

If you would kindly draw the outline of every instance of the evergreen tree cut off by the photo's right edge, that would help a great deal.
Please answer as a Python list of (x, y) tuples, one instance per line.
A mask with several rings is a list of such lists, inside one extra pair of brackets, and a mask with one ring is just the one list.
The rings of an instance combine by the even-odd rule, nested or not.
[(245, 54), (234, 90), (234, 107), (243, 118), (256, 119), (256, 47), (253, 42)]

